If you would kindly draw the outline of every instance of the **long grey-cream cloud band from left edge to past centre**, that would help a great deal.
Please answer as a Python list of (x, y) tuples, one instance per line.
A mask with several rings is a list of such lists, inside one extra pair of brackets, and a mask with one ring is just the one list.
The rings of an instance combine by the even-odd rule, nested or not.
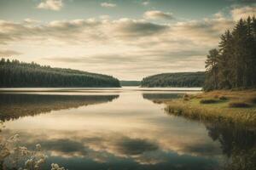
[(97, 42), (123, 38), (150, 37), (166, 31), (168, 26), (144, 20), (54, 20), (49, 23), (24, 23), (0, 20), (2, 43), (36, 40), (63, 42)]

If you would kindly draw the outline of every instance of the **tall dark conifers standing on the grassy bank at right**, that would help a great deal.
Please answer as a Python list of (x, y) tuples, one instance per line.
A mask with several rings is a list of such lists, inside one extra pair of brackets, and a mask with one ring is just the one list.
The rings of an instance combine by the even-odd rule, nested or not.
[(207, 55), (205, 89), (256, 88), (256, 19), (239, 20)]

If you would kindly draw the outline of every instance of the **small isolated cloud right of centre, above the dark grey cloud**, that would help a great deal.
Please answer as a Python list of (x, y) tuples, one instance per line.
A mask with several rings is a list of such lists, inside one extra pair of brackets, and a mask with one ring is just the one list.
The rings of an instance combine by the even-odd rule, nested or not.
[(150, 10), (144, 13), (144, 18), (149, 20), (173, 20), (172, 13), (164, 13), (159, 10)]

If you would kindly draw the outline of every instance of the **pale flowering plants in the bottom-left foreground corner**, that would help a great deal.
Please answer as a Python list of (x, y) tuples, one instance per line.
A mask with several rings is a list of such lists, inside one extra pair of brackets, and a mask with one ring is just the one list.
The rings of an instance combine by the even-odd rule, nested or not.
[[(0, 121), (0, 133), (3, 128), (3, 122)], [(19, 134), (15, 134), (9, 137), (9, 139), (5, 139), (3, 136), (0, 136), (0, 169), (42, 169), (47, 156), (44, 155), (41, 144), (36, 144), (35, 150), (28, 150), (25, 146), (20, 146), (19, 142)], [(52, 163), (51, 170), (65, 170), (65, 168)]]

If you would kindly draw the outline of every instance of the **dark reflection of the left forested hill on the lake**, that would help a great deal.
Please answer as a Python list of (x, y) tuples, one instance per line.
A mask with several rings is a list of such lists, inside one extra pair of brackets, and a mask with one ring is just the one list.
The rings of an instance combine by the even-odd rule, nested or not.
[(119, 95), (40, 95), (0, 94), (0, 120), (35, 116), (49, 111), (96, 105), (117, 99)]

